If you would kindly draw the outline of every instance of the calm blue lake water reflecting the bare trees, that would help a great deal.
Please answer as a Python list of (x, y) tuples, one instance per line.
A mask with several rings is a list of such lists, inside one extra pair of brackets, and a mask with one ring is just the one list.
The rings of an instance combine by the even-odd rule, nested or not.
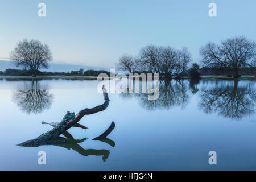
[[(19, 147), (67, 111), (104, 102), (97, 80), (0, 80), (1, 170), (256, 169), (255, 81), (159, 83), (159, 98), (109, 94), (100, 113), (61, 135), (65, 144)], [(105, 141), (94, 141), (115, 122)], [(38, 152), (46, 152), (46, 165)], [(209, 151), (217, 165), (209, 165)]]

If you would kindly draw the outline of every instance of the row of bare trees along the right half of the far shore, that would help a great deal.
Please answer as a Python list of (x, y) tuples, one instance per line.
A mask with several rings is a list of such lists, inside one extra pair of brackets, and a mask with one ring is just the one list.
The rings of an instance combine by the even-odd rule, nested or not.
[(138, 56), (122, 55), (116, 68), (130, 73), (159, 73), (164, 78), (255, 75), (256, 43), (245, 36), (229, 38), (220, 44), (209, 42), (200, 48), (200, 56), (201, 68), (192, 63), (191, 53), (185, 47), (177, 50), (170, 46), (150, 45), (143, 47)]

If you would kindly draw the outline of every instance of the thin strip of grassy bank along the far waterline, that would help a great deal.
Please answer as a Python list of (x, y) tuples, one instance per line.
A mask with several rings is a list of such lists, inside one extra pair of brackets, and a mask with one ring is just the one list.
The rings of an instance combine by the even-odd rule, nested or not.
[[(204, 75), (200, 77), (205, 80), (234, 80), (233, 77), (226, 77), (222, 75)], [(6, 80), (48, 80), (48, 79), (68, 79), (68, 80), (97, 80), (97, 76), (0, 76), (0, 79)], [(189, 77), (183, 77), (181, 79), (189, 79)], [(237, 80), (255, 80), (256, 77), (254, 75), (243, 75), (241, 78)]]

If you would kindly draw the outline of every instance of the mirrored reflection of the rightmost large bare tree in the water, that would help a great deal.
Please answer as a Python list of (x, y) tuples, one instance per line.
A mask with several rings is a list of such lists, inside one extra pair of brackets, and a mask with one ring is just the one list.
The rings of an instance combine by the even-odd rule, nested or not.
[(238, 87), (238, 81), (234, 81), (233, 86), (216, 82), (213, 89), (201, 90), (200, 96), (199, 107), (205, 113), (216, 112), (225, 118), (236, 119), (254, 113), (256, 95), (250, 84)]

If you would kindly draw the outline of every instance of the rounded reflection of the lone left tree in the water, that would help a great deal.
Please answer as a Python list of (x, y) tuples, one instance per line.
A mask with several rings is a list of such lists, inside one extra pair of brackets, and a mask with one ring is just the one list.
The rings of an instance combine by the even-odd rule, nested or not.
[(38, 114), (49, 109), (52, 100), (53, 94), (47, 89), (40, 89), (37, 81), (33, 81), (29, 89), (15, 90), (13, 93), (13, 101), (28, 114)]

